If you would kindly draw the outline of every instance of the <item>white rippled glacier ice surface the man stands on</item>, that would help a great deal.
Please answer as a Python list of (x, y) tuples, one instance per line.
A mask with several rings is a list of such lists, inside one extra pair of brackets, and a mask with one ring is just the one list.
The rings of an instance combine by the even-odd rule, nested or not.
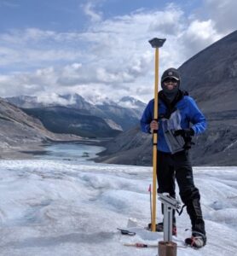
[[(178, 255), (237, 255), (237, 167), (196, 167), (207, 245), (178, 247)], [(124, 243), (157, 244), (163, 233), (143, 227), (150, 222), (152, 168), (78, 163), (76, 160), (0, 161), (0, 255), (157, 255), (158, 249)], [(178, 191), (177, 191), (178, 192)], [(178, 193), (177, 193), (178, 194)], [(158, 202), (158, 221), (161, 221)], [(122, 236), (126, 228), (136, 236)], [(132, 222), (130, 222), (131, 224)], [(184, 211), (177, 217), (183, 246), (190, 235)]]

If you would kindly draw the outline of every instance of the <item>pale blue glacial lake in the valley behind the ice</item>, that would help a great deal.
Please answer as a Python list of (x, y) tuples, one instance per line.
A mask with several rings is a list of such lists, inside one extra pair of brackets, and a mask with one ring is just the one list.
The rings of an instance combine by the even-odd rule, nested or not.
[(34, 154), (34, 158), (41, 160), (78, 160), (88, 161), (105, 148), (79, 143), (55, 143), (43, 147), (43, 152)]

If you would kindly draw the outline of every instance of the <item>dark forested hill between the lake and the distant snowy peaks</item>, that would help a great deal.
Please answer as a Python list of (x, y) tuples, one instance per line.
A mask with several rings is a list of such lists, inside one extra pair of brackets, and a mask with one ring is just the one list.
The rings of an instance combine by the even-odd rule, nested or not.
[(119, 127), (91, 115), (86, 110), (67, 107), (23, 108), (25, 113), (38, 118), (43, 126), (55, 133), (75, 134), (80, 137), (114, 137)]

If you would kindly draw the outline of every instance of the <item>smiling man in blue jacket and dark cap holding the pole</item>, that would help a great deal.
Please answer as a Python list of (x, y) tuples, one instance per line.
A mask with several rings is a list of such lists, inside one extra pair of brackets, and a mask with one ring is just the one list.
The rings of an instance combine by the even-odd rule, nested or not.
[[(142, 114), (141, 126), (144, 132), (158, 132), (158, 192), (166, 192), (175, 197), (176, 178), (192, 224), (192, 236), (185, 239), (185, 242), (192, 247), (203, 247), (206, 243), (205, 223), (188, 149), (192, 145), (191, 137), (205, 131), (206, 122), (194, 99), (180, 90), (180, 82), (180, 74), (175, 68), (169, 68), (163, 73), (162, 90), (159, 91), (159, 119), (153, 119), (154, 100), (151, 100)], [(173, 221), (175, 224), (174, 214)], [(158, 224), (160, 230), (163, 230), (163, 223)]]

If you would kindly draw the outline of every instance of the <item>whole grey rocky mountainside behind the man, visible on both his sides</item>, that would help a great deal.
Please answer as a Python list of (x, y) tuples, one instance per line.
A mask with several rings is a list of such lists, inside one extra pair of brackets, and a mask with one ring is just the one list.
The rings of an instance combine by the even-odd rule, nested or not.
[[(236, 166), (237, 31), (194, 55), (179, 71), (182, 89), (194, 97), (208, 124), (207, 131), (194, 140), (194, 165)], [(138, 144), (135, 138), (139, 138)], [(99, 161), (147, 166), (152, 163), (151, 137), (144, 137), (139, 128), (120, 134), (106, 147)]]

